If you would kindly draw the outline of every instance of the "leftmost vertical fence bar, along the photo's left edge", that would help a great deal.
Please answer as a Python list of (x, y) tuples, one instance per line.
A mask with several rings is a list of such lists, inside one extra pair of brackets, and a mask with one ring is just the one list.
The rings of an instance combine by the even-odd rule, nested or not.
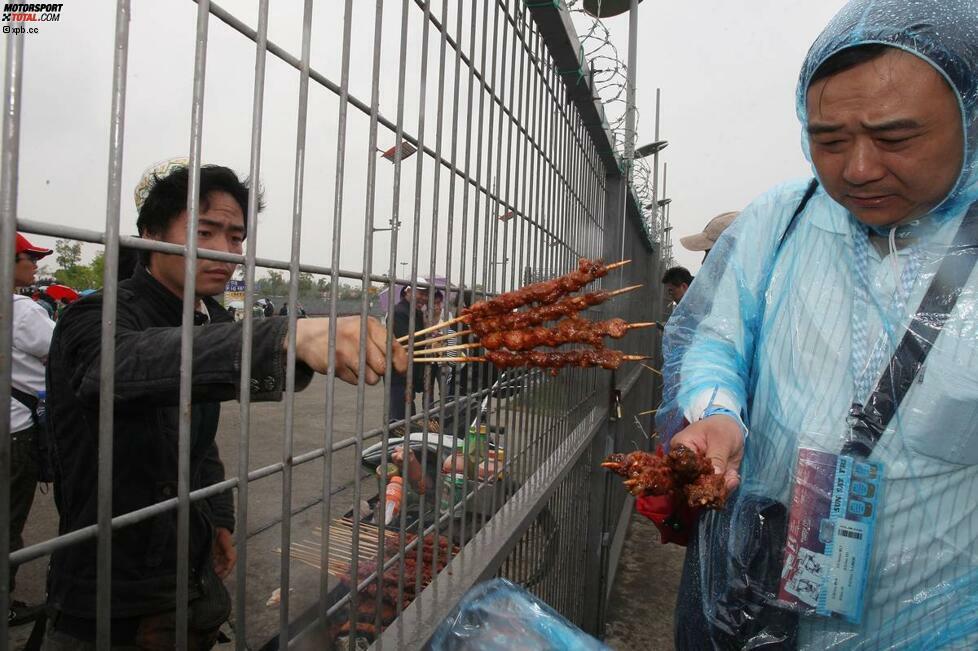
[[(14, 26), (19, 26), (14, 23)], [(24, 74), (24, 36), (4, 39), (7, 64), (3, 74), (3, 168), (0, 170), (0, 287), (14, 286), (14, 254), (17, 235), (17, 189), (20, 165), (20, 103)], [(13, 348), (13, 294), (0, 301), (0, 351)], [(0, 409), (10, 413), (11, 357), (0, 355)], [(0, 612), (10, 607), (10, 417), (0, 419)], [(0, 640), (7, 639), (7, 621), (0, 622)]]

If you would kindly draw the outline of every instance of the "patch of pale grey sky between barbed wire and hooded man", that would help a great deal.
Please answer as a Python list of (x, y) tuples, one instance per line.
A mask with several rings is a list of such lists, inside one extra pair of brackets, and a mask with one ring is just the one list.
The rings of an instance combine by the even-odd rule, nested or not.
[[(639, 145), (652, 141), (655, 89), (669, 147), (666, 191), (674, 256), (695, 271), (701, 253), (679, 237), (740, 210), (771, 186), (811, 177), (794, 92), (812, 41), (844, 0), (649, 0), (639, 6)], [(622, 58), (628, 16), (606, 19)], [(661, 172), (660, 172), (661, 178)]]

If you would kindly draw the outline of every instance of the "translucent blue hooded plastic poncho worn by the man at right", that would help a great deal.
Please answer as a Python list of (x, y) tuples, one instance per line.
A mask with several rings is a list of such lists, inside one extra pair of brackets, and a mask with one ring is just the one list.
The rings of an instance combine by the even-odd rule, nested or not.
[[(739, 413), (749, 428), (741, 488), (726, 511), (701, 518), (687, 555), (678, 606), (678, 638), (687, 647), (701, 643), (704, 631), (763, 619), (723, 605), (751, 562), (745, 540), (760, 547), (749, 541), (770, 532), (758, 529), (784, 517), (769, 507), (790, 504), (799, 449), (840, 451), (850, 405), (868, 393), (855, 395), (865, 385), (856, 376), (865, 373), (853, 370), (854, 355), (874, 388), (903, 334), (928, 319), (917, 314), (921, 298), (978, 199), (975, 0), (850, 2), (802, 67), (797, 103), (806, 155), (812, 75), (836, 52), (869, 43), (919, 56), (947, 80), (960, 103), (964, 164), (943, 202), (892, 238), (867, 234), (819, 188), (779, 249), (807, 182), (776, 187), (727, 229), (678, 306), (666, 328), (659, 431), (668, 439), (708, 406)], [(859, 268), (869, 289), (863, 301)], [(865, 352), (854, 353), (854, 340), (868, 342)], [(799, 647), (978, 648), (978, 273), (871, 459), (883, 464), (886, 479), (861, 622), (808, 612), (794, 629)], [(756, 596), (746, 599), (756, 603)], [(747, 648), (793, 626), (771, 621)], [(714, 635), (714, 643), (721, 639)]]

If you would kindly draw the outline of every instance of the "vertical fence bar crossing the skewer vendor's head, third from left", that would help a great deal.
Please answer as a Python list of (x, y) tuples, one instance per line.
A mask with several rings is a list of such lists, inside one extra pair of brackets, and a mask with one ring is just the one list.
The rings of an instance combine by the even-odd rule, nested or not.
[(204, 74), (210, 1), (197, 4), (194, 91), (190, 118), (190, 180), (187, 184), (187, 244), (184, 254), (183, 317), (180, 325), (180, 427), (177, 448), (177, 648), (188, 648), (190, 603), (190, 423), (193, 374), (193, 327), (196, 303), (197, 223), (200, 219), (200, 151), (204, 122)]

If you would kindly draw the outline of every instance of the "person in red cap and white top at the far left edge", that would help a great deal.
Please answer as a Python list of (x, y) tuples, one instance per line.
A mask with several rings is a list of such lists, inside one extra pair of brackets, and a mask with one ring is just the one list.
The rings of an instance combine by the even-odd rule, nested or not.
[[(34, 283), (37, 261), (51, 255), (51, 249), (31, 244), (26, 237), (17, 234), (14, 262), (14, 289), (29, 287)], [(24, 546), (24, 525), (34, 504), (37, 489), (37, 462), (34, 459), (33, 441), (37, 435), (38, 392), (44, 391), (44, 366), (54, 321), (44, 307), (30, 296), (14, 292), (13, 349), (10, 354), (11, 397), (10, 401), (10, 551)], [(10, 568), (9, 587), (13, 593), (17, 566)], [(10, 626), (32, 621), (41, 606), (29, 606), (23, 601), (11, 600), (7, 623)]]

